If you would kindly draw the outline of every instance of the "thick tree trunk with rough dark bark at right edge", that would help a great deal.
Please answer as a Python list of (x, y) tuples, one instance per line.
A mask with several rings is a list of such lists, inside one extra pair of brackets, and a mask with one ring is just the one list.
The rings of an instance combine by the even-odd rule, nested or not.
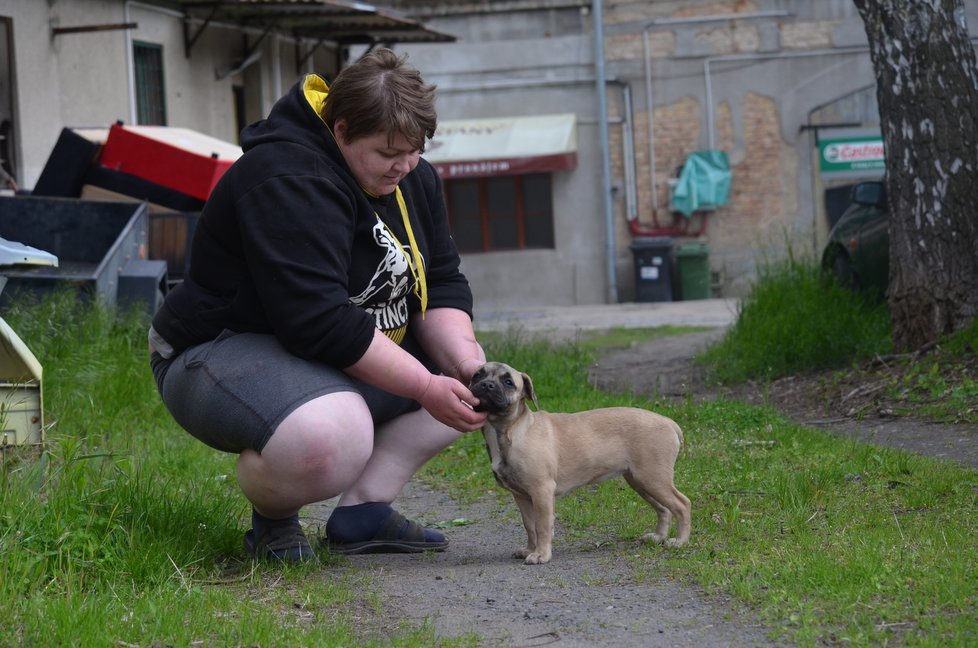
[(876, 71), (890, 204), (893, 345), (978, 313), (978, 66), (962, 0), (853, 0)]

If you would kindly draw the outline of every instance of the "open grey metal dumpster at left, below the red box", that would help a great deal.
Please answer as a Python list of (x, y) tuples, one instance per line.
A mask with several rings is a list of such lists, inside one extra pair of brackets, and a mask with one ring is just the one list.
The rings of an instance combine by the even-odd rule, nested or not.
[(126, 295), (151, 295), (146, 307), (155, 313), (166, 290), (166, 263), (146, 259), (148, 229), (145, 203), (0, 196), (0, 238), (59, 260), (57, 266), (0, 266), (7, 279), (0, 307), (19, 293), (39, 295), (65, 284), (115, 306), (122, 280)]

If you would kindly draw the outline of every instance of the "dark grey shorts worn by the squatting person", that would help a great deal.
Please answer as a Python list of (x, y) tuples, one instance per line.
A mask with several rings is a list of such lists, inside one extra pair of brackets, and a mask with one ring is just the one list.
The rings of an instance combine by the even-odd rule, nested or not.
[[(403, 346), (434, 370), (412, 338)], [(420, 408), (417, 401), (371, 387), (335, 367), (298, 358), (272, 335), (225, 331), (170, 360), (153, 353), (150, 365), (163, 404), (177, 423), (225, 452), (261, 452), (285, 417), (325, 394), (361, 394), (375, 424)]]

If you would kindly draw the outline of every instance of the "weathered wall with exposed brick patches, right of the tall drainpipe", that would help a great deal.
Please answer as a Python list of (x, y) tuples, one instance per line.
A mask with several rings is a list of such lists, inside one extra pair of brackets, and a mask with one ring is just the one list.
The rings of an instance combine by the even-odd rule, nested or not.
[[(789, 5), (792, 3), (788, 3)], [(758, 56), (778, 52), (799, 52), (833, 46), (833, 33), (840, 20), (783, 19), (759, 21), (709, 21), (684, 24), (660, 23), (656, 18), (681, 19), (736, 13), (760, 12), (767, 7), (745, 0), (730, 2), (610, 2), (605, 23), (617, 25), (605, 41), (606, 61), (619, 69), (644, 71), (643, 30), (651, 50), (654, 100), (655, 175), (661, 224), (672, 222), (668, 207), (667, 182), (675, 177), (689, 153), (705, 148), (706, 106), (703, 104), (702, 60), (726, 55)], [(731, 64), (732, 65), (732, 64)], [(744, 65), (748, 70), (749, 64)], [(658, 75), (658, 76), (657, 76)], [(670, 88), (682, 83), (688, 91)], [(726, 294), (741, 294), (759, 257), (772, 259), (787, 246), (811, 250), (809, 232), (796, 231), (798, 219), (799, 163), (809, 151), (796, 150), (796, 142), (786, 139), (791, 130), (782, 123), (777, 89), (764, 79), (742, 73), (743, 88), (715, 98), (714, 145), (726, 151), (732, 165), (730, 203), (708, 216), (707, 241), (711, 266), (727, 278)], [(663, 78), (665, 77), (665, 78)], [(679, 79), (674, 80), (674, 79)], [(791, 79), (788, 79), (790, 82)], [(633, 78), (636, 103), (634, 114), (634, 155), (639, 221), (652, 224), (650, 186), (648, 110), (643, 100), (644, 78)], [(665, 88), (665, 92), (660, 92)], [(680, 96), (676, 96), (676, 95)], [(664, 98), (663, 98), (664, 97)], [(735, 104), (731, 105), (731, 101)], [(801, 109), (807, 109), (801, 107)], [(615, 182), (623, 182), (621, 138), (617, 129), (611, 144)], [(620, 211), (620, 209), (619, 209)], [(699, 218), (699, 216), (694, 216)], [(620, 260), (628, 254), (631, 235), (618, 227)]]

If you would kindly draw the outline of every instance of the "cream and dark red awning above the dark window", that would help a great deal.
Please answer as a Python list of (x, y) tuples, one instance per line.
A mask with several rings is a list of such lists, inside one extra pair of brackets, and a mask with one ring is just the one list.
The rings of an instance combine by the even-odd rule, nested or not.
[(573, 169), (577, 166), (577, 117), (568, 113), (441, 120), (424, 158), (442, 178)]

